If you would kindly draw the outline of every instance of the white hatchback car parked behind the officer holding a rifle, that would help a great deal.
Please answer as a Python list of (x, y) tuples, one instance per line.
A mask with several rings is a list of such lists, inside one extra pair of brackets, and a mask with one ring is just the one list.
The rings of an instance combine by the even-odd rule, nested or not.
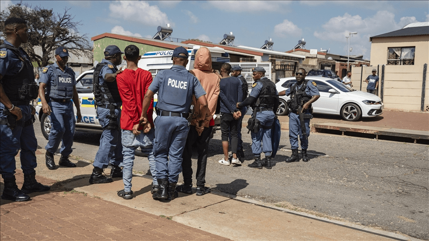
[[(305, 80), (316, 83), (320, 98), (312, 104), (313, 113), (341, 115), (344, 120), (357, 121), (361, 117), (375, 117), (383, 113), (384, 104), (380, 97), (354, 90), (335, 79), (325, 77), (306, 76)], [(286, 90), (293, 83), (295, 77), (281, 78), (276, 84), (278, 92)], [(277, 115), (286, 114), (288, 96), (279, 96), (280, 103)]]

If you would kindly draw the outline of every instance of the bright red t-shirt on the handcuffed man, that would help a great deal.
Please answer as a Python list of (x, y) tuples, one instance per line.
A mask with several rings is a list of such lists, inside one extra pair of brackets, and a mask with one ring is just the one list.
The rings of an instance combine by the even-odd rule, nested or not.
[[(119, 94), (122, 99), (121, 129), (132, 130), (142, 116), (142, 103), (144, 94), (152, 83), (152, 74), (149, 71), (138, 68), (137, 70), (125, 69), (116, 76)], [(153, 99), (147, 109), (147, 119), (153, 128)], [(143, 129), (143, 125), (139, 130)]]

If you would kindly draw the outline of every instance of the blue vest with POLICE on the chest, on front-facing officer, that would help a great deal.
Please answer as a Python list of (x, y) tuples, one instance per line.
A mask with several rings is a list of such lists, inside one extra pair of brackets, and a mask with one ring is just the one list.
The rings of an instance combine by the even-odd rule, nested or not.
[(54, 71), (54, 84), (51, 84), (49, 97), (54, 99), (73, 98), (73, 78), (68, 72), (59, 71), (53, 64), (49, 65)]

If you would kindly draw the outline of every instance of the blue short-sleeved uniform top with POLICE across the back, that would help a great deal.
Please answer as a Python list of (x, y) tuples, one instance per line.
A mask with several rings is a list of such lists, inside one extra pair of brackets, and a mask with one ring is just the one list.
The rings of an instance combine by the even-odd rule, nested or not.
[(157, 108), (179, 113), (189, 113), (192, 95), (198, 99), (206, 94), (200, 81), (182, 65), (159, 71), (149, 90), (158, 92)]

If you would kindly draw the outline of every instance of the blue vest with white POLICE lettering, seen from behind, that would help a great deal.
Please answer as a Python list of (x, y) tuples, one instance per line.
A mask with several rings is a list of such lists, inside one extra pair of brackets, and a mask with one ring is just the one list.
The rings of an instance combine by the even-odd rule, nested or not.
[[(190, 74), (165, 69), (162, 85), (158, 90), (156, 108), (163, 111), (189, 113), (194, 82)], [(193, 75), (191, 75), (194, 77)]]

